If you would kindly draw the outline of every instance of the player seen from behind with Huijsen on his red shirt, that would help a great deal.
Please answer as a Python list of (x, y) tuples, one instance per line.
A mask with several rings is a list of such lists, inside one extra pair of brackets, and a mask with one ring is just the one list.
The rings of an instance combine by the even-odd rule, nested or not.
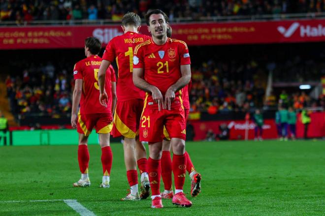
[[(133, 50), (137, 44), (148, 39), (147, 35), (139, 34), (141, 20), (132, 12), (122, 19), (123, 35), (114, 37), (105, 49), (103, 60), (98, 72), (100, 90), (99, 101), (105, 105), (107, 95), (104, 91), (104, 77), (108, 65), (116, 59), (118, 66), (117, 105), (114, 114), (113, 136), (123, 136), (124, 160), (130, 193), (122, 200), (140, 200), (150, 195), (150, 183), (147, 173), (147, 154), (138, 139), (140, 116), (143, 108), (143, 92), (136, 88), (132, 81)], [(138, 193), (138, 164), (141, 174), (141, 192)]]

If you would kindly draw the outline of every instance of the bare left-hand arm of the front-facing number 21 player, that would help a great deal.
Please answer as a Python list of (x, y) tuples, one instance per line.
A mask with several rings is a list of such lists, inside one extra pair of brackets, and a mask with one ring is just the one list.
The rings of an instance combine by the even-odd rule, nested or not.
[(143, 68), (133, 68), (132, 78), (133, 78), (134, 86), (136, 86), (137, 88), (145, 92), (151, 93), (152, 99), (155, 101), (155, 103), (158, 103), (158, 110), (160, 111), (161, 107), (163, 106), (162, 93), (156, 86), (150, 85), (144, 79), (142, 79), (142, 77), (143, 77)]

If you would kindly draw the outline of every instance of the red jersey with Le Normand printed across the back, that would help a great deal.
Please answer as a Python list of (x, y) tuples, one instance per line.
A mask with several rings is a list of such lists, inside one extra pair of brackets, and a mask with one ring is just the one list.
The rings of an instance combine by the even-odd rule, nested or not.
[(83, 79), (82, 95), (80, 99), (80, 113), (109, 113), (112, 114), (112, 84), (116, 82), (115, 71), (112, 65), (107, 68), (105, 79), (105, 91), (108, 96), (107, 107), (99, 103), (98, 70), (101, 58), (89, 56), (77, 62), (73, 68), (74, 79)]

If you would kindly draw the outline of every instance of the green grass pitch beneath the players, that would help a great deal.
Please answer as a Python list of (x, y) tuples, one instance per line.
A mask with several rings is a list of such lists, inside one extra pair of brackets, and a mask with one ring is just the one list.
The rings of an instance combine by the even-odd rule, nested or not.
[(73, 188), (80, 178), (77, 146), (0, 147), (0, 216), (78, 215), (63, 201), (75, 199), (97, 216), (106, 215), (324, 215), (324, 141), (188, 142), (187, 151), (202, 175), (202, 191), (190, 197), (191, 208), (163, 200), (126, 202), (128, 182), (123, 146), (111, 144), (110, 188), (98, 188), (102, 169), (100, 148), (89, 146), (89, 188)]

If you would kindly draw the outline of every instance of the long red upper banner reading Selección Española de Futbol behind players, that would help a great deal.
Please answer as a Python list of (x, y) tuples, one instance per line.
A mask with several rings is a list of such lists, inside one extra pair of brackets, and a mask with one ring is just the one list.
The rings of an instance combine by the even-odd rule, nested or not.
[[(325, 41), (325, 19), (231, 23), (171, 24), (173, 38), (188, 45), (254, 44)], [(149, 34), (146, 26), (142, 33)], [(105, 46), (122, 34), (119, 25), (0, 28), (0, 49), (82, 48), (96, 36)]]

